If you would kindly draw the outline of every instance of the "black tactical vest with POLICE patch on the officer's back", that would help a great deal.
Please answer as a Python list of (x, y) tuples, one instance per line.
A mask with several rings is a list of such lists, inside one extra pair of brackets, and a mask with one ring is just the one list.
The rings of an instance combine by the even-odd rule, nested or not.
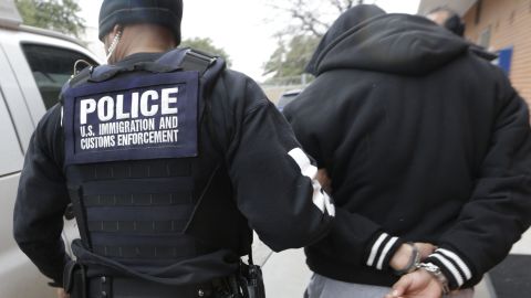
[[(198, 70), (201, 63), (208, 68)], [(155, 63), (85, 71), (63, 91), (64, 169), (81, 263), (171, 279), (219, 252), (249, 253), (251, 232), (209, 125), (209, 89), (223, 68), (175, 50)], [(235, 269), (236, 259), (225, 262), (197, 279)]]

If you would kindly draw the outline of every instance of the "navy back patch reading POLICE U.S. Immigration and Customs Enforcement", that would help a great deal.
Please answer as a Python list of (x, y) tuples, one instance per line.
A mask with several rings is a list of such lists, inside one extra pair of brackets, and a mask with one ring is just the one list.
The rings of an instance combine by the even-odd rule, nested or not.
[(197, 72), (140, 74), (64, 94), (65, 163), (197, 156)]

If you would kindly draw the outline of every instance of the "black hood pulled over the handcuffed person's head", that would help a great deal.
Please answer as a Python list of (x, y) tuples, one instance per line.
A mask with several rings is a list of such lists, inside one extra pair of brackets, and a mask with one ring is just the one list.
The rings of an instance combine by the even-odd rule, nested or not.
[(306, 72), (335, 68), (423, 75), (467, 52), (469, 43), (430, 20), (386, 14), (375, 6), (344, 12), (317, 46)]

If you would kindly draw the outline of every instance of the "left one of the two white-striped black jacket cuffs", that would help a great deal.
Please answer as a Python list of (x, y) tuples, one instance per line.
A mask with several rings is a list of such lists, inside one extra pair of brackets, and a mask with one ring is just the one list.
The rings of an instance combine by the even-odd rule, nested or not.
[(391, 258), (403, 243), (400, 238), (387, 233), (376, 235), (368, 244), (366, 265), (377, 270), (388, 269)]

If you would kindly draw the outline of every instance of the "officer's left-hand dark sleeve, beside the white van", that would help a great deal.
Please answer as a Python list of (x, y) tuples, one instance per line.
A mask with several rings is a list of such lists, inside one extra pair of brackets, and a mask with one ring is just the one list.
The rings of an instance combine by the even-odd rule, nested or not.
[(28, 148), (14, 206), (13, 233), (20, 248), (54, 286), (62, 284), (69, 260), (61, 238), (63, 214), (69, 203), (61, 166), (55, 162), (60, 108), (39, 124)]

